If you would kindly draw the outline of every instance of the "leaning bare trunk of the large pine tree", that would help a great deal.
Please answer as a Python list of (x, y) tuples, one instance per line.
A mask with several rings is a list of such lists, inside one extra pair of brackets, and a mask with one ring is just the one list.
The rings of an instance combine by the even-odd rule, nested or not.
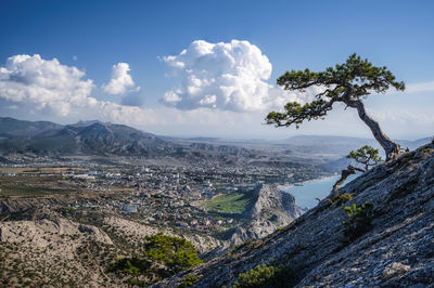
[(380, 143), (380, 145), (384, 148), (386, 154), (386, 161), (393, 158), (396, 158), (399, 155), (400, 146), (393, 142), (386, 134), (384, 134), (383, 130), (381, 130), (380, 125), (378, 121), (372, 119), (365, 109), (365, 104), (360, 101), (344, 101), (346, 105), (349, 107), (356, 108), (359, 117), (363, 122), (371, 129), (373, 136)]

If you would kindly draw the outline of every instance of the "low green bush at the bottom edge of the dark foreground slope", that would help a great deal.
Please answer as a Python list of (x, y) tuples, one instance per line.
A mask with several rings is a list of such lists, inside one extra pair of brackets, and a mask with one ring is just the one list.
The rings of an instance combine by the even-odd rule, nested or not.
[(279, 288), (291, 286), (294, 274), (290, 267), (258, 265), (238, 275), (233, 288)]

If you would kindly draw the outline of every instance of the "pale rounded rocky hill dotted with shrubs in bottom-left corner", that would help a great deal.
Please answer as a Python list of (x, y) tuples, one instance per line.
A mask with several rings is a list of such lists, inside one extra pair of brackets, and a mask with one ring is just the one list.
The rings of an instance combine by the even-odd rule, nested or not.
[(103, 231), (92, 225), (66, 219), (2, 222), (0, 243), (2, 287), (36, 283), (49, 287), (85, 283), (100, 287), (123, 283), (108, 277), (101, 265), (119, 251), (115, 251)]

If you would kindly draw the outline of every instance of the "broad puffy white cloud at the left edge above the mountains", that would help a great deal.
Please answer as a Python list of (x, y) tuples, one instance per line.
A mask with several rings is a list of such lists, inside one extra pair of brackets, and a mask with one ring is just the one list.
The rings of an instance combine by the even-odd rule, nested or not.
[(71, 106), (92, 106), (92, 80), (85, 73), (40, 55), (15, 55), (0, 67), (0, 97), (15, 103), (31, 103), (37, 109), (52, 108), (67, 115)]

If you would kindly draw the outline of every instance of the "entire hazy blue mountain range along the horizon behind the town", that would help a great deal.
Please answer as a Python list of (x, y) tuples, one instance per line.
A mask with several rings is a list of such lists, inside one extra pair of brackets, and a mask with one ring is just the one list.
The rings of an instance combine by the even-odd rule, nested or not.
[[(414, 149), (430, 141), (425, 138), (399, 140), (398, 143), (404, 148)], [(271, 161), (344, 166), (346, 160), (343, 157), (366, 144), (380, 148), (375, 140), (360, 138), (302, 135), (281, 141), (179, 139), (98, 120), (58, 125), (0, 117), (0, 158), (10, 155), (126, 156), (210, 159), (228, 163), (263, 165)]]

